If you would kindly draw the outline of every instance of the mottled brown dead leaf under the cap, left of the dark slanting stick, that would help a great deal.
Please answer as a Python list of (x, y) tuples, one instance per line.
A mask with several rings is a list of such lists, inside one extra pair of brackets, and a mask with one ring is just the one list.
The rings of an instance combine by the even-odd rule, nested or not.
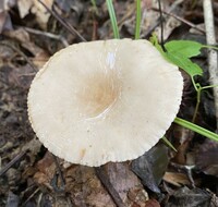
[(65, 191), (76, 206), (116, 207), (94, 168), (72, 165), (64, 171)]

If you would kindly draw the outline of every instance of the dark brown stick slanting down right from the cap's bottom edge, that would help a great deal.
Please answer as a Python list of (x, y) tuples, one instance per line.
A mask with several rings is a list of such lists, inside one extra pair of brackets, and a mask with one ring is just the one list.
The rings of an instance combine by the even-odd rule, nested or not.
[(114, 187), (112, 186), (112, 184), (110, 183), (110, 181), (108, 180), (106, 174), (102, 172), (101, 167), (95, 168), (95, 171), (96, 171), (96, 175), (98, 176), (98, 179), (100, 180), (102, 185), (106, 187), (106, 190), (110, 194), (110, 196), (113, 199), (114, 204), (118, 207), (125, 207), (125, 205), (124, 205), (123, 200), (121, 199), (120, 195), (114, 190)]

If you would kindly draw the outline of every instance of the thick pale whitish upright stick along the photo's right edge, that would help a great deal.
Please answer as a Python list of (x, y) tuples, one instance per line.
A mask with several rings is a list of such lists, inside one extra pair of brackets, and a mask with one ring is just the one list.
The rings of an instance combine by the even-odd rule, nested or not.
[[(204, 8), (207, 45), (216, 45), (211, 0), (204, 0), (203, 8)], [(209, 49), (208, 50), (208, 71), (209, 71), (209, 82), (211, 85), (218, 84), (217, 65), (218, 65), (217, 52), (214, 49)], [(216, 121), (217, 121), (217, 130), (218, 130), (218, 87), (214, 87), (213, 89), (214, 89), (214, 96), (215, 96), (215, 110), (216, 110)]]

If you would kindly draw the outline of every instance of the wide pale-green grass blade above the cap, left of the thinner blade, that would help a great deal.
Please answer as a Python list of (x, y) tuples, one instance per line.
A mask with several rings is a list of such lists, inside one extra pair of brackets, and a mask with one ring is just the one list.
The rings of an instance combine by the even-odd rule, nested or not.
[(113, 9), (112, 0), (107, 0), (107, 7), (108, 7), (109, 15), (110, 15), (113, 36), (114, 36), (114, 38), (120, 39), (118, 22), (117, 22), (116, 12), (114, 12), (114, 9)]

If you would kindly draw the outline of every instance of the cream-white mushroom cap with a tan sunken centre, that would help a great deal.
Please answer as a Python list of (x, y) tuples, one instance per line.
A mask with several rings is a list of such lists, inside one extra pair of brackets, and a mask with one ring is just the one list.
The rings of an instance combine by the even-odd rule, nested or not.
[(72, 45), (37, 73), (28, 115), (41, 143), (73, 163), (135, 159), (178, 113), (183, 78), (147, 40)]

